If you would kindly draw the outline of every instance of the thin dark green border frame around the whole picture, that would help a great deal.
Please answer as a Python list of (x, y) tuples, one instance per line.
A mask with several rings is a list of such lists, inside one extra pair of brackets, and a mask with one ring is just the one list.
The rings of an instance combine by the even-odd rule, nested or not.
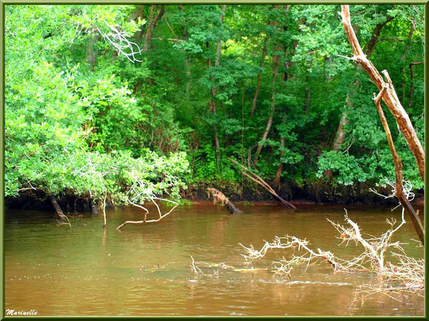
[[(230, 3), (230, 4), (271, 4), (271, 3), (291, 3), (291, 4), (343, 4), (343, 3), (347, 3), (347, 4), (389, 4), (389, 3), (394, 3), (394, 4), (425, 4), (425, 53), (428, 52), (428, 25), (426, 23), (426, 19), (428, 17), (428, 13), (429, 13), (429, 0), (401, 0), (401, 1), (392, 1), (392, 0), (376, 0), (376, 1), (365, 1), (365, 0), (348, 0), (348, 1), (338, 1), (338, 0), (333, 0), (333, 1), (324, 1), (324, 0), (309, 0), (309, 1), (305, 1), (305, 0), (294, 0), (294, 1), (275, 1), (275, 0), (222, 0), (222, 1), (217, 1), (217, 0), (197, 0), (197, 1), (192, 1), (192, 0), (166, 0), (166, 1), (162, 1), (162, 0), (152, 0), (152, 1), (133, 1), (133, 0), (113, 0), (113, 1), (109, 1), (109, 0), (91, 0), (91, 1), (82, 1), (82, 0), (66, 0), (66, 1), (61, 1), (61, 0), (51, 0), (51, 1), (37, 1), (37, 0), (0, 0), (0, 21), (1, 21), (1, 26), (0, 26), (0, 32), (1, 32), (1, 39), (0, 39), (0, 59), (1, 59), (1, 68), (0, 68), (0, 81), (1, 81), (1, 85), (0, 85), (0, 97), (1, 97), (1, 104), (0, 104), (0, 128), (1, 128), (1, 136), (0, 136), (0, 142), (1, 142), (1, 148), (0, 148), (0, 165), (1, 165), (1, 171), (0, 171), (0, 191), (1, 191), (1, 195), (0, 195), (0, 214), (1, 214), (1, 220), (0, 220), (0, 247), (1, 247), (1, 253), (0, 253), (0, 259), (1, 259), (1, 264), (0, 264), (0, 273), (1, 273), (1, 294), (2, 294), (2, 300), (0, 302), (0, 320), (3, 319), (21, 319), (21, 320), (34, 320), (34, 319), (38, 319), (38, 320), (53, 320), (53, 319), (62, 319), (62, 320), (73, 320), (73, 319), (114, 319), (114, 320), (118, 320), (118, 319), (170, 319), (170, 318), (177, 318), (177, 319), (195, 319), (195, 318), (205, 318), (205, 319), (217, 319), (217, 318), (228, 318), (228, 319), (235, 319), (235, 318), (249, 318), (249, 319), (281, 319), (281, 318), (287, 318), (287, 319), (295, 319), (295, 320), (302, 320), (302, 319), (318, 319), (318, 320), (333, 320), (333, 319), (343, 319), (346, 318), (347, 320), (360, 320), (360, 319), (404, 319), (404, 320), (429, 320), (428, 318), (428, 313), (427, 313), (427, 307), (428, 307), (428, 297), (427, 297), (427, 288), (425, 286), (425, 314), (423, 317), (421, 316), (367, 316), (367, 317), (357, 317), (357, 316), (304, 316), (304, 317), (268, 317), (268, 316), (257, 316), (257, 317), (253, 317), (253, 316), (246, 316), (246, 317), (222, 317), (222, 316), (216, 316), (216, 317), (190, 317), (190, 316), (179, 316), (179, 317), (154, 317), (154, 316), (150, 316), (150, 317), (144, 317), (144, 316), (127, 316), (127, 317), (111, 317), (111, 316), (106, 316), (106, 317), (100, 317), (100, 316), (65, 316), (65, 317), (47, 317), (47, 316), (32, 316), (32, 317), (12, 317), (12, 316), (5, 316), (5, 298), (4, 298), (4, 293), (5, 293), (5, 285), (4, 285), (4, 280), (5, 280), (5, 269), (4, 269), (4, 106), (5, 106), (5, 95), (4, 95), (4, 70), (5, 70), (5, 61), (4, 61), (4, 57), (5, 57), (5, 42), (4, 42), (4, 12), (5, 12), (5, 6), (6, 5), (10, 5), (10, 4), (62, 4), (62, 5), (67, 5), (67, 4), (152, 4), (152, 3), (163, 3), (163, 4), (174, 4), (174, 3), (185, 3), (185, 4), (221, 4), (221, 3)], [(424, 61), (426, 63), (426, 55), (424, 58)], [(424, 69), (424, 79), (425, 79), (425, 84), (426, 84), (426, 79), (427, 79), (427, 75), (428, 75), (428, 65), (425, 64), (425, 69)], [(426, 90), (425, 90), (425, 133), (424, 133), (424, 137), (425, 137), (425, 142), (424, 142), (424, 148), (425, 150), (427, 150), (428, 148), (428, 131), (426, 130), (426, 115), (427, 115), (427, 109), (428, 109), (428, 95), (426, 94)], [(425, 153), (426, 154), (426, 153)], [(428, 168), (425, 164), (425, 182), (428, 181)], [(424, 192), (424, 200), (425, 203), (428, 201), (428, 195), (426, 193), (426, 188), (425, 188), (425, 192)], [(427, 206), (425, 206), (424, 208), (424, 226), (425, 226), (425, 230), (426, 230), (426, 218), (427, 218), (427, 213), (428, 213), (428, 208)], [(425, 244), (428, 244), (428, 236), (425, 235)], [(426, 249), (424, 251), (425, 253), (425, 260), (426, 257), (428, 256), (428, 246), (426, 246)], [(427, 273), (428, 273), (428, 269), (425, 265), (425, 277), (427, 277)], [(426, 282), (426, 280), (425, 280)]]

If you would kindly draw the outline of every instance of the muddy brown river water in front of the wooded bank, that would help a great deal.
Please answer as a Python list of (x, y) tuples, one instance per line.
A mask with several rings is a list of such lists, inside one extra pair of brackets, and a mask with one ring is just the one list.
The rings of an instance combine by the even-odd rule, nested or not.
[[(360, 253), (339, 246), (327, 221), (344, 222), (342, 206), (300, 206), (291, 210), (264, 204), (237, 204), (230, 215), (208, 202), (183, 205), (161, 222), (141, 220), (138, 208), (108, 211), (103, 230), (100, 215), (71, 218), (72, 228), (57, 226), (51, 213), (5, 213), (5, 309), (37, 315), (424, 315), (423, 298), (405, 304), (383, 295), (354, 304), (359, 284), (376, 282), (369, 273), (335, 273), (326, 264), (295, 266), (292, 278), (273, 276), (269, 253), (249, 271), (238, 243), (259, 249), (275, 235), (307, 238), (313, 249), (338, 257)], [(154, 215), (154, 208), (152, 208)], [(380, 235), (386, 218), (400, 220), (399, 210), (385, 206), (347, 206), (362, 231)], [(411, 222), (394, 240), (407, 242), (408, 255), (423, 257)], [(204, 275), (191, 269), (191, 255)], [(223, 269), (224, 263), (232, 268)]]

